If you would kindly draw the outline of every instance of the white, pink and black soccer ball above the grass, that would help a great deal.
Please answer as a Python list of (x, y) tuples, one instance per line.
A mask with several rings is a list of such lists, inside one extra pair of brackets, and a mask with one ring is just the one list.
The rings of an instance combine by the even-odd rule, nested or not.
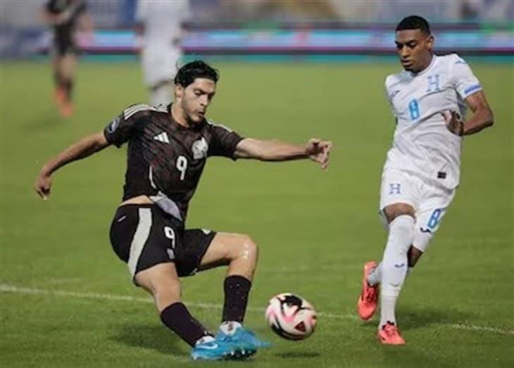
[(287, 340), (303, 340), (314, 332), (316, 311), (311, 303), (292, 293), (270, 299), (265, 317), (275, 334)]

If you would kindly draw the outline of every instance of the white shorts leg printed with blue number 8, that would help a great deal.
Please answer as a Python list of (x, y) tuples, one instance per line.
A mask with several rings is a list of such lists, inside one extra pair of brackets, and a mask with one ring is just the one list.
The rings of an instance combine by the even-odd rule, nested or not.
[(453, 201), (455, 190), (429, 187), (416, 214), (413, 246), (425, 253)]

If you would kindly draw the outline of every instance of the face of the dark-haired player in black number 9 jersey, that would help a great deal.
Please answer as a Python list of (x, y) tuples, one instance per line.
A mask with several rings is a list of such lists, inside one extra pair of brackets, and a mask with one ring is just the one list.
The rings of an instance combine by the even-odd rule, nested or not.
[(193, 124), (203, 121), (207, 108), (216, 93), (216, 83), (207, 78), (196, 78), (186, 88), (177, 87), (177, 103), (180, 103), (184, 115)]

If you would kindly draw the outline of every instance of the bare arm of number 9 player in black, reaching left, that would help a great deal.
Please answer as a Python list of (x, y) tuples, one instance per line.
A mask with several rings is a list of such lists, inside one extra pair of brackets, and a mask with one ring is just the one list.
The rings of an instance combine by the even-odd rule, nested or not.
[(59, 167), (63, 167), (64, 165), (80, 160), (81, 158), (86, 158), (87, 156), (106, 148), (108, 145), (109, 143), (106, 140), (104, 132), (89, 135), (80, 139), (80, 141), (77, 141), (75, 144), (72, 144), (56, 157), (51, 158), (44, 163), (34, 184), (35, 191), (43, 199), (48, 198), (51, 188), (51, 175), (58, 170)]

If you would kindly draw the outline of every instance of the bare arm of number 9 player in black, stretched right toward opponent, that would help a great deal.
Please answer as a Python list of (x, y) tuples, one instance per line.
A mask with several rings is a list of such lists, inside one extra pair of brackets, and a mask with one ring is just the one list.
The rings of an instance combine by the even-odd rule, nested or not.
[(281, 141), (268, 141), (245, 138), (236, 146), (234, 157), (255, 158), (262, 161), (287, 161), (310, 158), (319, 163), (323, 170), (328, 166), (332, 142), (309, 139), (305, 145), (289, 144)]

